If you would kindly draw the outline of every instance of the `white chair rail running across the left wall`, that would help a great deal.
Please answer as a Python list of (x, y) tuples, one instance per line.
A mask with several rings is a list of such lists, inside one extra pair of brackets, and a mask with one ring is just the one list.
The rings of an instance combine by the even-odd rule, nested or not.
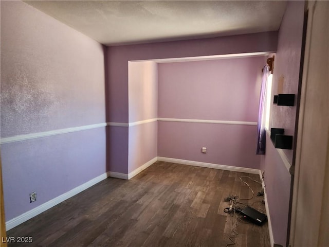
[(85, 125), (85, 126), (58, 129), (58, 130), (50, 130), (50, 131), (44, 131), (44, 132), (38, 132), (38, 133), (15, 135), (15, 136), (1, 138), (0, 143), (6, 144), (6, 143), (13, 143), (13, 142), (21, 142), (22, 140), (29, 140), (29, 139), (35, 139), (35, 138), (40, 138), (40, 137), (52, 136), (52, 135), (60, 135), (60, 134), (65, 134), (65, 133), (70, 133), (70, 132), (81, 131), (81, 130), (96, 129), (96, 128), (100, 128), (100, 127), (105, 127), (106, 125), (107, 125), (106, 122), (102, 122), (102, 123), (96, 123), (95, 125)]

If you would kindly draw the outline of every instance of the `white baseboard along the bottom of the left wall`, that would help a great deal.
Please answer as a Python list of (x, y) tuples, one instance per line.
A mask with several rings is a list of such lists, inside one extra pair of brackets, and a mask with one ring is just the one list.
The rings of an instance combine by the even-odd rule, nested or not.
[(24, 214), (19, 215), (13, 219), (7, 221), (6, 230), (8, 231), (13, 227), (22, 224), (23, 222), (33, 218), (34, 216), (37, 216), (37, 215), (43, 213), (44, 211), (48, 210), (49, 208), (56, 206), (57, 204), (69, 199), (70, 197), (77, 195), (78, 193), (82, 192), (83, 190), (85, 190), (89, 187), (92, 187), (93, 185), (101, 182), (102, 180), (104, 180), (106, 178), (107, 178), (107, 174), (103, 173), (103, 174), (99, 175), (98, 177), (96, 177), (92, 180), (89, 180), (88, 182), (86, 182), (74, 189), (71, 189), (70, 191), (67, 191), (66, 193), (64, 193), (54, 199), (51, 199), (50, 201), (45, 202), (45, 203), (41, 204), (40, 206), (35, 207), (35, 208), (25, 212)]

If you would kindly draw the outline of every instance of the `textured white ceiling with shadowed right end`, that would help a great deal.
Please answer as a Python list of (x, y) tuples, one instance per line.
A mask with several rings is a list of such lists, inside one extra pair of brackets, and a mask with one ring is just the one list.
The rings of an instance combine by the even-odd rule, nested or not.
[(105, 44), (278, 30), (286, 1), (24, 1)]

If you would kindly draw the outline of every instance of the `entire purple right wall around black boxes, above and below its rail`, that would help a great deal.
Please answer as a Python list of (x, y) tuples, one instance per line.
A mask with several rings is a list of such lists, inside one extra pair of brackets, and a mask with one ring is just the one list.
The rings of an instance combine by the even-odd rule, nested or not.
[[(297, 94), (303, 13), (304, 1), (288, 1), (279, 30), (272, 96), (278, 93)], [(285, 134), (294, 135), (295, 119), (296, 103), (294, 107), (272, 105), (270, 128), (284, 128)], [(267, 135), (267, 139), (269, 139), (269, 135)], [(293, 150), (283, 151), (291, 164), (293, 161)], [(266, 142), (266, 154), (262, 158), (261, 169), (265, 170), (264, 181), (267, 189), (273, 238), (276, 243), (286, 246), (291, 178), (282, 158), (278, 156), (278, 151), (269, 141)]]

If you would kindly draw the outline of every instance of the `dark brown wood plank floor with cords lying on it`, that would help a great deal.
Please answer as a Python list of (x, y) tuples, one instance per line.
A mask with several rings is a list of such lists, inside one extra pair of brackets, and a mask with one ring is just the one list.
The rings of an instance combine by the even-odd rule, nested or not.
[[(251, 195), (255, 174), (156, 162), (126, 181), (108, 178), (7, 232), (9, 246), (270, 246), (268, 225), (224, 213), (228, 195)], [(247, 179), (246, 179), (247, 181)], [(261, 185), (249, 181), (257, 193)], [(262, 197), (245, 203), (265, 213)]]

